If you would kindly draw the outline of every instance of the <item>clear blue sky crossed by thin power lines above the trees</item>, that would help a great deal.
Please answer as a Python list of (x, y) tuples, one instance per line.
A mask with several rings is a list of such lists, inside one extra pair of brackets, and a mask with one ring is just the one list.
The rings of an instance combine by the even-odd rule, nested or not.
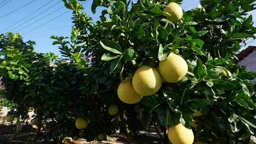
[[(11, 30), (10, 32), (19, 32), (22, 35), (28, 31), (30, 31), (31, 29), (34, 29), (35, 27), (38, 27), (38, 26), (46, 23), (47, 21), (68, 11), (68, 9), (66, 9), (65, 7), (61, 8), (64, 6), (64, 3), (62, 1), (59, 2), (60, 0), (35, 0), (33, 2), (31, 2), (31, 1), (33, 1), (33, 0), (0, 0), (0, 33), (9, 32)], [(8, 16), (1, 18), (2, 16), (8, 14), (9, 12), (13, 11), (14, 9), (18, 9), (19, 7), (25, 5), (29, 2), (31, 2), (31, 3), (28, 4), (27, 6), (25, 6), (24, 8), (19, 9)], [(2, 6), (5, 3), (7, 3), (7, 4)], [(48, 4), (45, 7), (43, 7), (42, 9), (40, 9), (39, 11), (33, 13), (31, 16), (27, 17), (26, 19), (20, 21), (18, 24), (14, 25), (13, 27), (10, 27), (9, 29), (2, 31), (4, 29), (6, 29), (7, 27), (18, 22), (20, 19), (26, 17), (31, 12), (42, 7), (46, 3), (48, 3)], [(93, 15), (91, 12), (91, 3), (92, 3), (92, 0), (88, 0), (87, 2), (85, 2), (83, 4), (83, 7), (85, 8), (84, 11), (87, 12), (88, 15), (91, 16), (93, 18), (93, 20), (95, 21), (95, 20), (99, 19), (102, 8), (97, 8), (96, 14)], [(183, 0), (182, 8), (184, 10), (193, 9), (193, 8), (198, 7), (198, 3), (199, 3), (199, 0)], [(54, 4), (56, 4), (56, 5), (54, 7), (52, 7)], [(48, 9), (49, 7), (52, 7), (52, 8)], [(46, 10), (46, 9), (48, 9), (48, 10)], [(59, 10), (57, 10), (57, 9), (59, 9)], [(45, 10), (46, 10), (46, 12), (43, 12)], [(46, 16), (53, 11), (55, 11), (55, 12), (49, 16)], [(41, 12), (42, 12), (42, 14), (38, 15)], [(252, 14), (253, 16), (256, 16), (255, 12), (256, 11), (254, 10), (254, 11), (250, 12), (250, 14)], [(36, 15), (38, 15), (38, 16), (35, 17)], [(35, 18), (32, 20), (29, 20), (30, 18), (33, 18), (33, 17), (35, 17)], [(52, 52), (52, 53), (55, 53), (55, 54), (58, 54), (59, 56), (61, 56), (57, 49), (57, 45), (52, 45), (53, 40), (50, 39), (50, 36), (52, 36), (52, 35), (70, 36), (71, 26), (72, 26), (71, 18), (72, 18), (72, 11), (69, 11), (66, 14), (64, 14), (63, 16), (56, 18), (55, 20), (47, 23), (46, 25), (39, 27), (25, 35), (22, 35), (22, 36), (24, 37), (25, 41), (33, 40), (37, 43), (37, 45), (35, 45), (37, 52), (40, 52), (40, 53)], [(256, 21), (256, 17), (253, 17), (253, 18), (254, 18), (254, 21)], [(27, 23), (23, 24), (26, 21), (27, 21)], [(32, 24), (32, 23), (34, 23), (34, 24)], [(23, 24), (23, 25), (21, 25), (21, 24)], [(18, 27), (19, 25), (21, 25), (21, 26)], [(22, 30), (18, 31), (19, 29), (22, 29)], [(251, 43), (251, 45), (255, 45), (255, 43)]]

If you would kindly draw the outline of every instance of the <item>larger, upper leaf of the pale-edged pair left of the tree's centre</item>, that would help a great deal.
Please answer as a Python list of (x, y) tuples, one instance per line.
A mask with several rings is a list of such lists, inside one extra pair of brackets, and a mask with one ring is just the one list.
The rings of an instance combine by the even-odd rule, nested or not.
[(105, 50), (108, 50), (108, 51), (110, 51), (112, 53), (115, 53), (115, 54), (122, 54), (121, 53), (122, 48), (117, 42), (103, 39), (103, 40), (100, 41), (100, 43), (101, 43), (101, 46)]

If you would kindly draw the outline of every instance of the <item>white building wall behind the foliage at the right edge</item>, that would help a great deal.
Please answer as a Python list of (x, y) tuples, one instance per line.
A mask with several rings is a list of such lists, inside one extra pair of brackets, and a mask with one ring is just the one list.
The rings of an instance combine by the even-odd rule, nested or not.
[[(246, 66), (248, 71), (256, 72), (256, 49), (238, 64)], [(253, 81), (255, 82), (256, 79)]]

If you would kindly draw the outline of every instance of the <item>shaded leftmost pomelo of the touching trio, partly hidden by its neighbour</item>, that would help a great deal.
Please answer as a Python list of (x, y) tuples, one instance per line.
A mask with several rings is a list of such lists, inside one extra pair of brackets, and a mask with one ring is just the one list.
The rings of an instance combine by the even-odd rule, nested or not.
[(130, 78), (122, 81), (118, 86), (118, 97), (119, 99), (127, 104), (135, 104), (142, 98), (132, 87)]

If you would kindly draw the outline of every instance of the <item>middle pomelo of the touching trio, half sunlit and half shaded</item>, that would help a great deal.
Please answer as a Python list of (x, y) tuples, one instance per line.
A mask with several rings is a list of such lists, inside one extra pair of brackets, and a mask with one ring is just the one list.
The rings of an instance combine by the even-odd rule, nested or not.
[(136, 70), (132, 78), (134, 90), (143, 96), (150, 96), (157, 92), (162, 85), (162, 78), (154, 68), (141, 66)]

